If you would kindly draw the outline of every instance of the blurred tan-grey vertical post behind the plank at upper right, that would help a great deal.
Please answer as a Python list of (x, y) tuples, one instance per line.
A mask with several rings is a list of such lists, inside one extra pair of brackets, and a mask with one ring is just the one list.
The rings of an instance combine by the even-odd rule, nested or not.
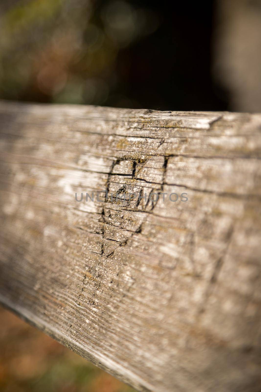
[(236, 111), (261, 111), (261, 0), (218, 0), (212, 75)]

